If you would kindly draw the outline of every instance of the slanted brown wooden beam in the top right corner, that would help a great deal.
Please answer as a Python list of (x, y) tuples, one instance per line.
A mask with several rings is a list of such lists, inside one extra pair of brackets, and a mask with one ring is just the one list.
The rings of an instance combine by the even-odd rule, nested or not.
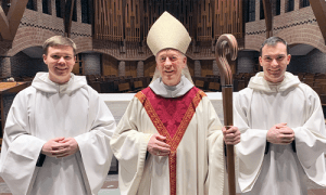
[(315, 14), (324, 42), (326, 44), (326, 1), (325, 0), (310, 0), (310, 5)]

